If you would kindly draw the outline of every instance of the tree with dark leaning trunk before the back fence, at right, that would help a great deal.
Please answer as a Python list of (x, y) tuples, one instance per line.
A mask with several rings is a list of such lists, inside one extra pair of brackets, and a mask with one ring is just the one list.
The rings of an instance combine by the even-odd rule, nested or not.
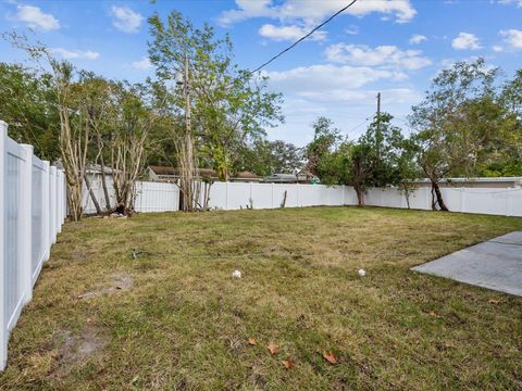
[(448, 210), (439, 180), (451, 173), (472, 175), (487, 157), (487, 146), (498, 139), (501, 115), (494, 109), (497, 74), (483, 59), (458, 62), (440, 72), (424, 100), (412, 108), (418, 161), (431, 180), (434, 210)]

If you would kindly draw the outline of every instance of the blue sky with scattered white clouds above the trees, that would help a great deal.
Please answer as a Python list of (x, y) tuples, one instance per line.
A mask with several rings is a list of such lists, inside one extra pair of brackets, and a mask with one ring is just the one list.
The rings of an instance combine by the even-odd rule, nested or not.
[[(236, 62), (253, 68), (347, 2), (0, 0), (0, 31), (32, 28), (57, 56), (78, 67), (139, 81), (153, 74), (147, 60), (147, 17), (153, 12), (177, 10), (196, 25), (215, 26), (217, 35), (228, 33)], [(1, 61), (24, 60), (3, 41), (0, 53)], [(270, 88), (284, 93), (286, 116), (285, 124), (268, 129), (269, 138), (303, 146), (319, 115), (357, 138), (375, 111), (377, 91), (383, 110), (408, 131), (406, 115), (433, 76), (475, 56), (500, 66), (507, 77), (522, 67), (522, 0), (359, 0), (265, 68)]]

